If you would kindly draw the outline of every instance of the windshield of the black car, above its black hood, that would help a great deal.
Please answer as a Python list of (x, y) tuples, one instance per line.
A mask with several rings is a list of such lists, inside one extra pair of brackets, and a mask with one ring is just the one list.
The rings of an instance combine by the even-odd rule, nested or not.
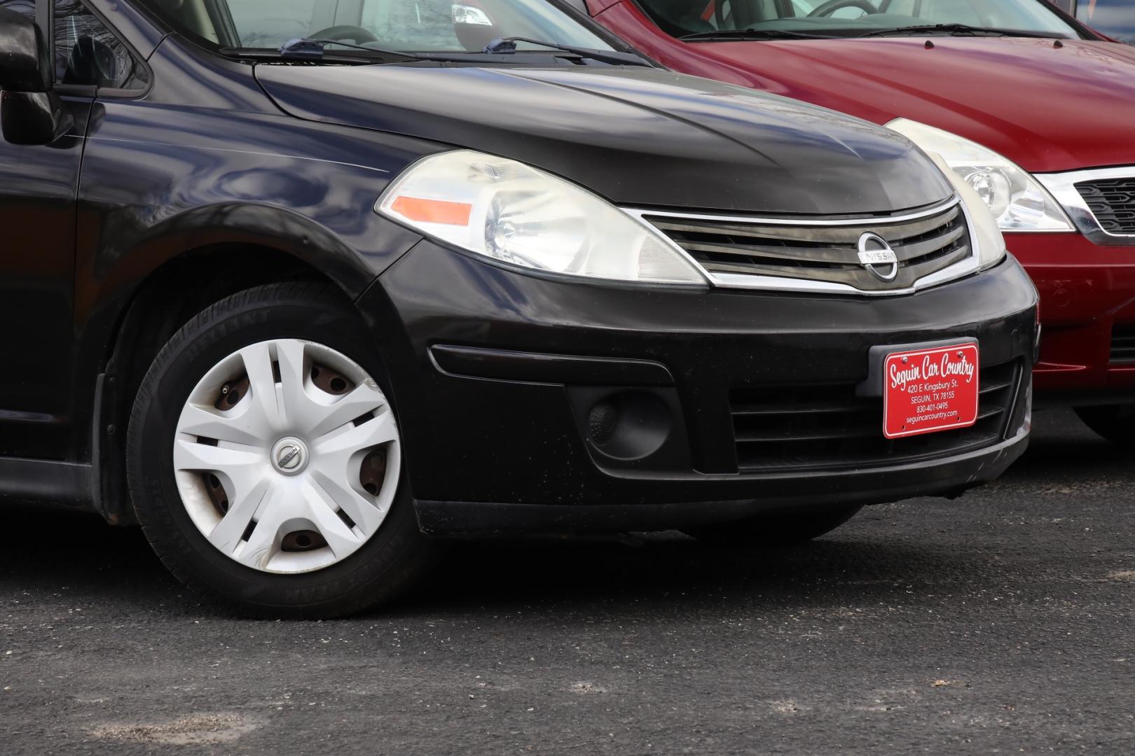
[[(207, 46), (278, 50), (299, 37), (412, 52), (480, 52), (523, 36), (612, 50), (577, 17), (547, 0), (142, 0)], [(520, 42), (518, 50), (544, 50)], [(356, 48), (328, 45), (338, 54)], [(365, 54), (362, 52), (362, 54)]]

